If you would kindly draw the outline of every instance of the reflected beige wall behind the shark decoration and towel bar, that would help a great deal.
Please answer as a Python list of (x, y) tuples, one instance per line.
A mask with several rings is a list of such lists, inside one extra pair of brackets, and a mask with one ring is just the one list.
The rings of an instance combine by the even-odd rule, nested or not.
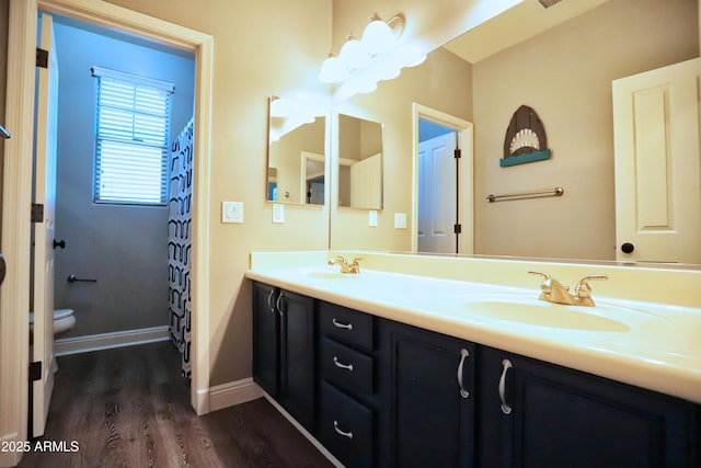
[[(699, 55), (696, 0), (612, 0), (473, 66), (475, 252), (616, 259), (611, 80)], [(501, 168), (531, 106), (552, 159)], [(562, 186), (561, 198), (487, 203)]]

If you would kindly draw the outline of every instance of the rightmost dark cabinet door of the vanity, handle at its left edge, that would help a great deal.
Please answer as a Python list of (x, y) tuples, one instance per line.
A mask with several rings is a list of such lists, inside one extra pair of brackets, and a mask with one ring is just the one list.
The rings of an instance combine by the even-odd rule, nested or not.
[(696, 466), (693, 404), (495, 350), (479, 352), (481, 466)]

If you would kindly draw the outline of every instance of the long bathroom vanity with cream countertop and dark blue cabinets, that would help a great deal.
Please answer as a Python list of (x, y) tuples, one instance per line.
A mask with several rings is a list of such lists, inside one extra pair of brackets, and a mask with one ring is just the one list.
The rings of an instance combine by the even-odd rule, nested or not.
[[(490, 282), (494, 265), (453, 262), (451, 274), (483, 266), (484, 282), (466, 282), (387, 271), (392, 255), (366, 254), (368, 266), (384, 270), (358, 275), (337, 273), (325, 258), (300, 266), (292, 256), (252, 258), (253, 376), (345, 466), (701, 463), (698, 308), (606, 297), (601, 312), (579, 311), (525, 298), (538, 297), (537, 281), (528, 289)], [(409, 260), (423, 264), (402, 269), (428, 274), (446, 259)], [(677, 296), (698, 277), (680, 281)], [(508, 316), (509, 306), (536, 319)], [(539, 322), (543, 311), (555, 322)], [(634, 312), (642, 318), (625, 316)], [(673, 339), (686, 350), (652, 341), (640, 345), (647, 354), (636, 349), (673, 322), (696, 344), (682, 333)]]

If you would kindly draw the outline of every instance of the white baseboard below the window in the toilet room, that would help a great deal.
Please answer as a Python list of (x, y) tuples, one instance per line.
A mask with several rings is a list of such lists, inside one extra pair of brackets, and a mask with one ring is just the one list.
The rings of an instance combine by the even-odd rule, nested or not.
[(136, 344), (153, 343), (170, 339), (171, 335), (168, 326), (61, 338), (54, 340), (54, 355), (65, 356), (68, 354), (88, 353), (90, 351), (108, 350), (111, 347), (134, 346)]

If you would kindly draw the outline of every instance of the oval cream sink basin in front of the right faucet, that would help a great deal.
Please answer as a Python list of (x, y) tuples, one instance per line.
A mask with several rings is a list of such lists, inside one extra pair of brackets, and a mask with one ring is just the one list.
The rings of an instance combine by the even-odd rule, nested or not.
[[(627, 332), (624, 322), (606, 317), (602, 307), (578, 307), (528, 299), (478, 299), (467, 305), (471, 313), (522, 324), (606, 332)], [(585, 310), (586, 309), (586, 310)]]

